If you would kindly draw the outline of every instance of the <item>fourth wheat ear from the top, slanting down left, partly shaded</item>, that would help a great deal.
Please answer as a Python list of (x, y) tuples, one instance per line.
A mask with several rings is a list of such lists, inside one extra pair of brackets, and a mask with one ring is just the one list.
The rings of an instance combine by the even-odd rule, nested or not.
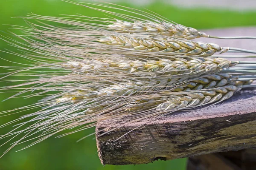
[(238, 77), (233, 77), (230, 74), (210, 74), (207, 76), (202, 76), (201, 78), (194, 79), (182, 79), (183, 82), (178, 82), (179, 79), (169, 79), (169, 81), (157, 81), (152, 82), (152, 80), (140, 82), (129, 81), (125, 84), (109, 85), (106, 88), (101, 88), (99, 90), (94, 90), (93, 88), (80, 89), (79, 91), (74, 91), (72, 93), (64, 94), (61, 98), (57, 99), (57, 102), (70, 101), (70, 102), (80, 102), (83, 100), (94, 100), (95, 97), (118, 97), (118, 96), (136, 96), (158, 93), (164, 91), (165, 93), (170, 92), (182, 92), (182, 91), (197, 91), (201, 89), (210, 89), (216, 87), (222, 87), (227, 83), (233, 82)]

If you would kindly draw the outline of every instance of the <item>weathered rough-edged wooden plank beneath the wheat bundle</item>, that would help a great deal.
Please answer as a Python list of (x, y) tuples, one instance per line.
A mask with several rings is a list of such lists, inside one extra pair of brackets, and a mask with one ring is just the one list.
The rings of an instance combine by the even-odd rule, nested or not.
[[(256, 148), (256, 90), (244, 89), (217, 105), (153, 117), (105, 133), (120, 126), (118, 122), (107, 122), (96, 126), (102, 164), (145, 164)], [(134, 129), (140, 125), (146, 126)]]

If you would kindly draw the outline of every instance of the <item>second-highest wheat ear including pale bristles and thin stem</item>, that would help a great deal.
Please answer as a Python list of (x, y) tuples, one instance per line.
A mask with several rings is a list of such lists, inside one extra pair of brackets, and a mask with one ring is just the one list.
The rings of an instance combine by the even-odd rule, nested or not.
[[(50, 31), (46, 31), (46, 29), (50, 29)], [(33, 31), (28, 31), (28, 34), (31, 34), (30, 37), (34, 37), (35, 40), (39, 40), (39, 42), (35, 40), (27, 41), (29, 41), (29, 44), (32, 45), (33, 48), (41, 48), (41, 50), (45, 51), (52, 50), (58, 52), (58, 54), (70, 56), (74, 54), (82, 55), (92, 52), (113, 54), (112, 51), (115, 51), (116, 54), (122, 54), (123, 50), (128, 48), (130, 48), (130, 50), (126, 51), (126, 54), (130, 53), (130, 56), (137, 55), (134, 52), (137, 52), (140, 55), (141, 52), (143, 52), (143, 54), (148, 57), (161, 57), (160, 55), (166, 54), (169, 56), (179, 57), (183, 55), (207, 57), (215, 54), (216, 52), (222, 54), (229, 50), (255, 53), (255, 51), (239, 48), (220, 47), (214, 43), (196, 42), (177, 38), (170, 39), (166, 37), (146, 37), (143, 35), (125, 36), (106, 30), (96, 31), (96, 28), (91, 28), (94, 29), (94, 32), (84, 30), (79, 31), (76, 34), (71, 30), (64, 30), (63, 28), (60, 28), (58, 31), (55, 29), (52, 30), (52, 28), (47, 28), (45, 26), (41, 27), (41, 29), (34, 28), (33, 31), (35, 31), (35, 33)], [(81, 36), (77, 36), (79, 33)], [(44, 44), (42, 43), (42, 40), (44, 40)], [(97, 43), (96, 41), (101, 43)], [(60, 42), (61, 45), (59, 45)], [(105, 44), (111, 46), (106, 47)], [(80, 46), (87, 48), (81, 49)], [(118, 50), (116, 49), (117, 46), (125, 49)], [(149, 53), (145, 54), (145, 52)], [(150, 52), (154, 53), (152, 54)]]

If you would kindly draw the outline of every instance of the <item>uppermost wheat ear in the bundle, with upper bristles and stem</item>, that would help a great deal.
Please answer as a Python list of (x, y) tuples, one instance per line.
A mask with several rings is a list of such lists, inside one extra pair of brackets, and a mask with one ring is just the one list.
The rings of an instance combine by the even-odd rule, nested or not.
[[(73, 3), (79, 6), (84, 6), (93, 10), (102, 11), (106, 14), (113, 15), (111, 19), (102, 20), (104, 23), (109, 23), (108, 28), (112, 31), (118, 31), (127, 34), (133, 33), (149, 33), (149, 34), (160, 34), (163, 36), (183, 38), (186, 40), (192, 40), (200, 37), (218, 38), (218, 39), (256, 39), (253, 36), (234, 36), (234, 37), (219, 37), (206, 34), (204, 32), (198, 31), (195, 28), (183, 26), (181, 24), (175, 23), (159, 14), (154, 13), (145, 9), (145, 11), (120, 6), (113, 3), (76, 3), (70, 0), (62, 0), (68, 3)], [(93, 7), (95, 6), (95, 7)], [(107, 8), (108, 10), (104, 9)], [(118, 10), (119, 12), (113, 12), (111, 10)], [(125, 13), (125, 14), (122, 14)], [(116, 19), (114, 17), (119, 17), (123, 20)], [(99, 18), (94, 18), (94, 20), (99, 21)], [(115, 20), (115, 21), (113, 21)]]

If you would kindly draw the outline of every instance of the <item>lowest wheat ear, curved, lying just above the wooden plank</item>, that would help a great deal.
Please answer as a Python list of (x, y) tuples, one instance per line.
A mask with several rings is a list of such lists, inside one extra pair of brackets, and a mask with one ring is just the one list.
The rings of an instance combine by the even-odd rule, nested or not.
[[(180, 91), (167, 89), (165, 91), (159, 91), (156, 97), (144, 96), (140, 101), (129, 104), (126, 111), (143, 112), (145, 109), (147, 109), (148, 114), (153, 113), (156, 115), (155, 110), (157, 110), (157, 113), (160, 114), (161, 111), (164, 113), (170, 113), (180, 109), (191, 109), (229, 99), (237, 91), (240, 91), (241, 88), (247, 86), (250, 87), (250, 83), (253, 82), (252, 80), (237, 81), (236, 78), (232, 78), (232, 76), (229, 74), (223, 76), (225, 77), (222, 77), (222, 79), (219, 80), (218, 85), (213, 83), (211, 87), (209, 86), (210, 83), (208, 85), (204, 84), (204, 79), (196, 79), (195, 82), (198, 84), (197, 87), (201, 86), (201, 88), (195, 87), (194, 89), (188, 88), (181, 89)], [(215, 80), (210, 79), (210, 81), (214, 82)]]

